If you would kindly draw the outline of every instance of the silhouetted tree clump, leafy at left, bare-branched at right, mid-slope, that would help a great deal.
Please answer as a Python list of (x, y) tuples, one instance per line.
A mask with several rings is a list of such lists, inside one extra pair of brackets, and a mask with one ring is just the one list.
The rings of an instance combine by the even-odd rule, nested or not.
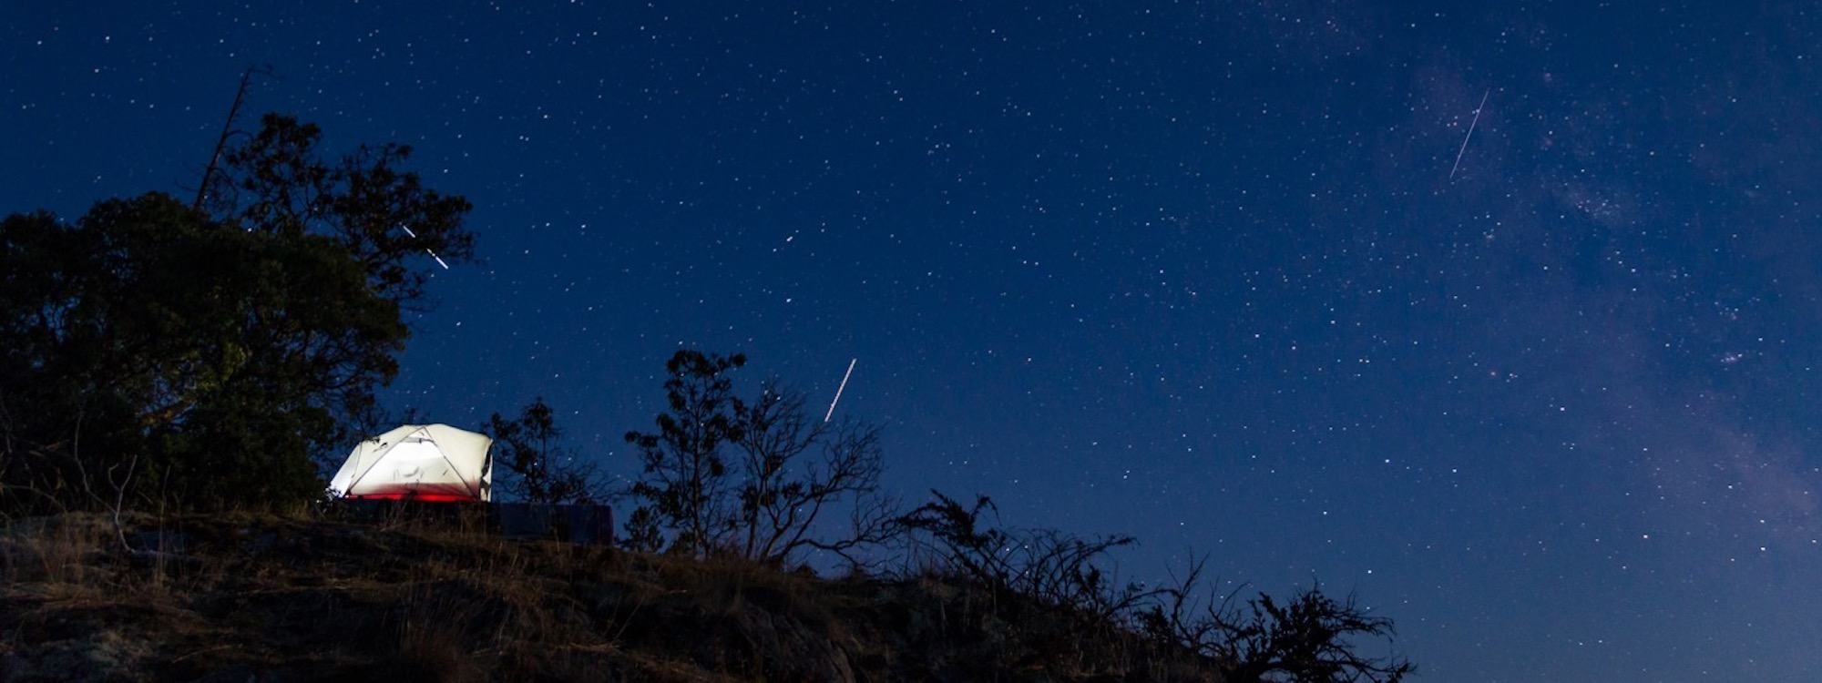
[[(683, 350), (665, 364), (667, 408), (658, 432), (629, 432), (643, 464), (627, 519), (629, 545), (669, 530), (680, 552), (725, 552), (785, 563), (827, 552), (869, 565), (862, 550), (896, 534), (896, 503), (880, 495), (876, 426), (827, 423), (776, 379), (754, 401), (734, 393), (745, 357)], [(834, 515), (847, 515), (845, 525)]]

